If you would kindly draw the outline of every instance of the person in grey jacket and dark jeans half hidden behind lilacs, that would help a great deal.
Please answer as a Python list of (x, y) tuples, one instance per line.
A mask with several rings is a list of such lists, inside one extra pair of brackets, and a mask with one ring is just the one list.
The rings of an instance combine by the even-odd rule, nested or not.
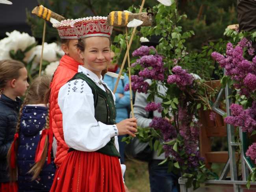
[[(147, 80), (151, 83), (151, 80)], [(159, 92), (165, 94), (163, 86), (159, 85)], [(147, 106), (147, 97), (149, 94), (138, 93), (135, 94), (134, 103), (134, 117), (137, 119), (137, 125), (140, 127), (148, 127), (152, 119), (148, 118), (149, 113), (145, 110)], [(161, 103), (162, 99), (155, 97), (154, 102)], [(161, 117), (161, 113), (154, 111), (154, 116)], [(159, 157), (156, 151), (153, 152), (152, 160), (148, 163), (149, 182), (151, 192), (177, 192), (178, 175), (173, 172), (167, 173), (167, 164), (158, 165), (165, 159), (165, 153), (162, 153)]]

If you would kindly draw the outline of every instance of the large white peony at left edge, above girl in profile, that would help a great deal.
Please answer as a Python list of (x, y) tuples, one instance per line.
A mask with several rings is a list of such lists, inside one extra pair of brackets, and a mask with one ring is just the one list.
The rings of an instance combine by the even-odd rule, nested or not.
[[(19, 31), (14, 30), (11, 33), (6, 32), (8, 37), (0, 41), (0, 60), (2, 59), (11, 59), (9, 51), (14, 50), (16, 53), (17, 50), (26, 50), (26, 48), (33, 43), (35, 43), (35, 37), (31, 37), (28, 33), (20, 33)], [(29, 53), (26, 53), (27, 56)]]

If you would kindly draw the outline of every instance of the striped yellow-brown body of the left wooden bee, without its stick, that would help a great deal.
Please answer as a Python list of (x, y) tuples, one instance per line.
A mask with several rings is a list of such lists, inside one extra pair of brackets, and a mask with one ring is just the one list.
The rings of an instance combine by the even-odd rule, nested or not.
[(54, 18), (56, 20), (58, 20), (59, 22), (61, 22), (61, 20), (64, 20), (65, 17), (62, 17), (61, 15), (54, 13), (53, 11), (51, 11), (50, 9), (47, 9), (44, 6), (36, 6), (33, 10), (32, 13), (34, 15), (37, 15), (38, 17), (41, 17), (47, 21), (50, 21), (50, 18)]

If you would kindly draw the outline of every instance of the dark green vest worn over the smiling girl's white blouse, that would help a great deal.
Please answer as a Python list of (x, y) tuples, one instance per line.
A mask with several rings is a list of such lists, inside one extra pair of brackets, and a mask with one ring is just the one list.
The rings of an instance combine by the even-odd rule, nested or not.
[[(94, 99), (94, 109), (95, 109), (94, 116), (97, 122), (100, 121), (106, 125), (115, 125), (117, 110), (115, 108), (113, 95), (111, 91), (107, 88), (107, 86), (102, 84), (106, 89), (106, 92), (105, 92), (100, 87), (98, 87), (96, 83), (93, 82), (93, 80), (88, 78), (83, 73), (75, 74), (74, 77), (69, 81), (72, 81), (74, 79), (82, 79), (86, 81), (86, 83), (91, 88), (93, 92), (93, 99)], [(70, 148), (69, 152), (70, 151), (74, 151), (74, 149)], [(119, 154), (119, 152), (117, 151), (117, 148), (115, 147), (115, 137), (111, 137), (110, 141), (106, 144), (106, 146), (97, 150), (96, 152), (121, 158), (121, 155)]]

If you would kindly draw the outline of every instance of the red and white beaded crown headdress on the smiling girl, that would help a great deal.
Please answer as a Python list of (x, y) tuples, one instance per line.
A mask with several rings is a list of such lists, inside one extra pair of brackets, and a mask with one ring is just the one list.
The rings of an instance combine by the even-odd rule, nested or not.
[(108, 17), (84, 17), (71, 22), (70, 26), (74, 27), (78, 39), (85, 37), (103, 36), (110, 37), (113, 26), (106, 26)]

